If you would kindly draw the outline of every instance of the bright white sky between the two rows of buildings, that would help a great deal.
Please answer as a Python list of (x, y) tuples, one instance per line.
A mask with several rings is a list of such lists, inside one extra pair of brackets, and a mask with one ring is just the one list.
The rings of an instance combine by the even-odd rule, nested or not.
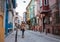
[[(24, 3), (24, 1), (26, 1)], [(26, 7), (29, 4), (30, 0), (16, 0), (17, 7), (16, 12), (18, 12), (19, 16), (23, 17), (23, 12), (26, 11)]]

